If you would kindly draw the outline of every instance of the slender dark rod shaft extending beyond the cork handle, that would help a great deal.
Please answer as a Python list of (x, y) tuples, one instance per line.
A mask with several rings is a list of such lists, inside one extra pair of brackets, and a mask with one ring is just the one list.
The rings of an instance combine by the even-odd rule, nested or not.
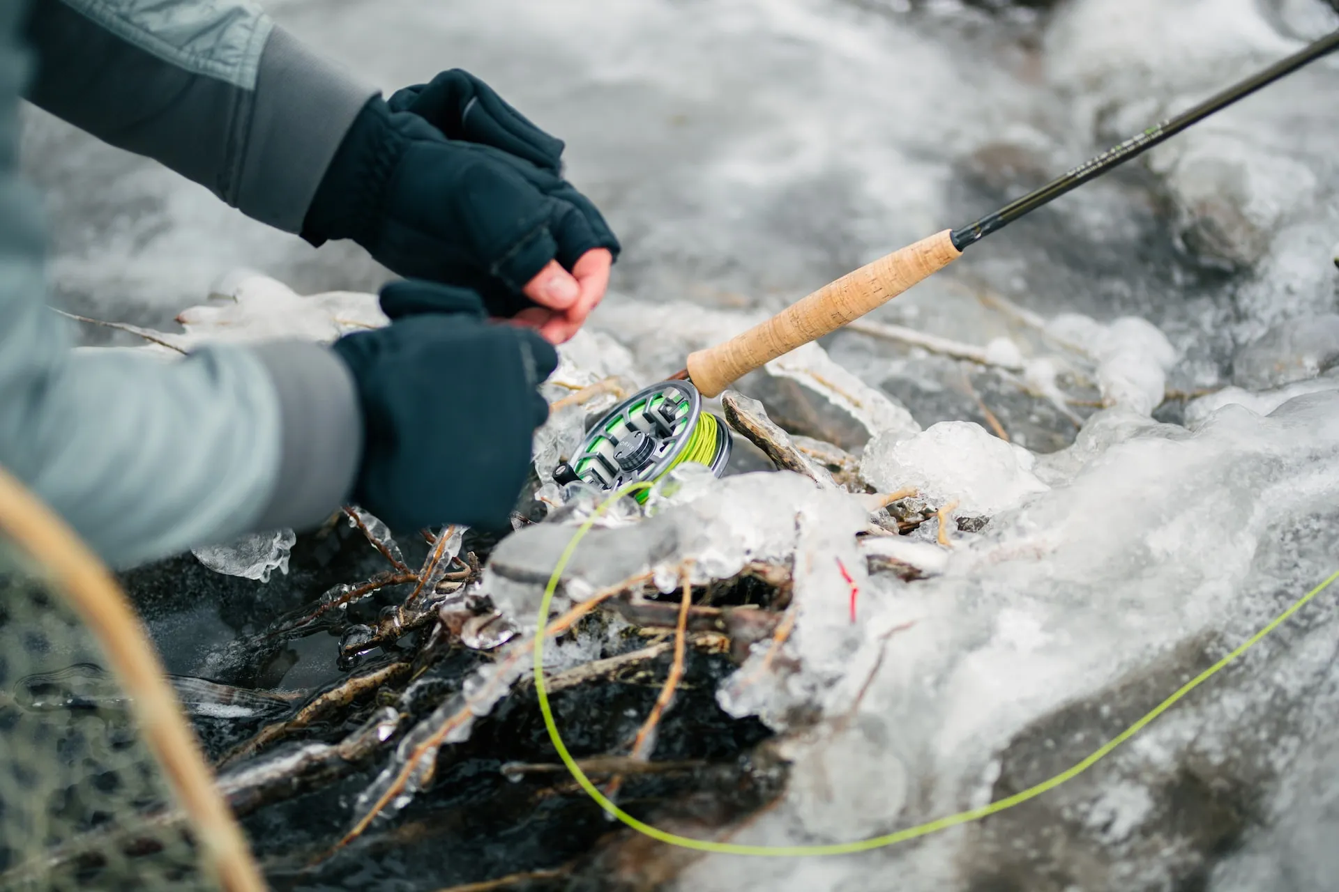
[(1126, 139), (1119, 146), (1106, 150), (1097, 158), (1079, 164), (1063, 177), (1058, 177), (1040, 189), (1010, 202), (994, 214), (987, 214), (975, 223), (964, 226), (963, 229), (955, 229), (951, 234), (953, 246), (957, 250), (963, 250), (968, 245), (979, 242), (995, 230), (1012, 223), (1019, 217), (1023, 217), (1042, 205), (1059, 198), (1071, 189), (1082, 186), (1094, 177), (1101, 177), (1113, 167), (1130, 160), (1153, 146), (1157, 146), (1164, 139), (1174, 136), (1190, 124), (1204, 120), (1213, 112), (1227, 108), (1236, 100), (1249, 96), (1256, 90), (1260, 90), (1280, 78), (1291, 75), (1297, 68), (1302, 68), (1303, 66), (1315, 62), (1320, 56), (1334, 52), (1335, 49), (1339, 49), (1339, 31), (1327, 37), (1322, 37), (1306, 49), (1269, 66), (1260, 74), (1247, 78), (1245, 80), (1228, 87), (1223, 92), (1205, 99), (1198, 106), (1181, 112), (1176, 118), (1165, 120), (1161, 124), (1154, 124), (1142, 134)]

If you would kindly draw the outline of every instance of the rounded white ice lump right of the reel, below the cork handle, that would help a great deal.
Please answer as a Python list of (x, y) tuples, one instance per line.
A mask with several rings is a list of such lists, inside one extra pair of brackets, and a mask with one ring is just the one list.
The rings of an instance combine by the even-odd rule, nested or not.
[(1032, 473), (1036, 457), (971, 421), (940, 421), (907, 440), (876, 437), (861, 476), (880, 492), (915, 488), (932, 506), (992, 516), (1047, 485)]

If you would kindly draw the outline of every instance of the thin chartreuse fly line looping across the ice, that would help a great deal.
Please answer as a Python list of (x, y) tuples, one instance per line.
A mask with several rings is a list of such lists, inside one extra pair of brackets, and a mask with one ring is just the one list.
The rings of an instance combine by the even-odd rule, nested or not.
[[(651, 483), (633, 483), (631, 485), (615, 491), (615, 493), (611, 495), (608, 499), (605, 499), (600, 504), (600, 507), (595, 511), (595, 514), (590, 515), (590, 518), (585, 523), (582, 523), (580, 528), (577, 528), (570, 542), (568, 542), (566, 548), (564, 548), (562, 554), (558, 556), (558, 563), (553, 567), (553, 574), (549, 576), (549, 583), (544, 587), (544, 598), (540, 600), (538, 629), (542, 630), (548, 626), (549, 606), (553, 602), (553, 592), (557, 590), (558, 579), (562, 578), (562, 571), (566, 568), (568, 562), (576, 552), (577, 546), (581, 544), (581, 539), (584, 539), (586, 532), (590, 531), (590, 527), (595, 526), (595, 522), (599, 520), (600, 515), (604, 514), (604, 511), (611, 504), (617, 501), (620, 497), (639, 489), (644, 491), (649, 487)], [(1288, 607), (1281, 614), (1275, 617), (1268, 626), (1265, 626), (1255, 635), (1252, 635), (1249, 639), (1247, 639), (1240, 647), (1237, 647), (1231, 654), (1228, 654), (1218, 662), (1213, 663), (1202, 673), (1200, 673), (1198, 675), (1188, 681), (1185, 685), (1178, 687), (1170, 697), (1168, 697), (1161, 703), (1149, 710), (1142, 718), (1139, 718), (1137, 722), (1134, 722), (1123, 732), (1113, 737), (1110, 741), (1099, 746), (1097, 750), (1093, 752), (1091, 756), (1078, 762), (1073, 768), (1069, 768), (1060, 772), (1059, 774), (1055, 774), (1054, 777), (1050, 777), (1042, 781), (1040, 784), (1036, 784), (1035, 786), (1030, 786), (1028, 789), (1022, 790), (1020, 793), (1015, 793), (1014, 796), (1008, 796), (1006, 798), (991, 802), (990, 805), (983, 805), (981, 808), (969, 809), (967, 812), (959, 812), (956, 814), (948, 814), (945, 817), (933, 821), (927, 821), (925, 824), (917, 824), (916, 826), (908, 826), (905, 829), (896, 830), (893, 833), (874, 836), (868, 840), (854, 840), (850, 843), (833, 843), (829, 845), (740, 845), (736, 843), (715, 843), (711, 840), (695, 840), (687, 836), (679, 836), (678, 833), (668, 833), (644, 821), (639, 821), (637, 818), (632, 817), (621, 808), (615, 805), (612, 801), (609, 801), (609, 798), (607, 798), (604, 793), (601, 793), (596, 788), (596, 785), (590, 782), (590, 778), (585, 776), (585, 772), (582, 772), (581, 766), (577, 765), (574, 758), (572, 758), (572, 753), (568, 752), (566, 745), (562, 742), (562, 734), (558, 733), (558, 726), (553, 721), (553, 710), (549, 706), (549, 691), (544, 686), (542, 634), (534, 637), (534, 691), (540, 698), (540, 711), (544, 714), (544, 726), (549, 730), (549, 740), (553, 741), (554, 749), (558, 750), (558, 758), (562, 760), (562, 764), (572, 773), (572, 777), (581, 786), (581, 789), (585, 790), (586, 796), (599, 802), (600, 808), (603, 808), (605, 812), (615, 816), (632, 829), (637, 830), (639, 833), (649, 836), (651, 839), (659, 840), (660, 843), (665, 843), (668, 845), (678, 845), (680, 848), (695, 849), (698, 852), (714, 852), (718, 855), (747, 855), (754, 857), (856, 855), (857, 852), (869, 852), (872, 849), (881, 849), (886, 845), (907, 843), (908, 840), (915, 840), (921, 836), (929, 836), (931, 833), (947, 830), (951, 826), (957, 826), (960, 824), (969, 824), (972, 821), (979, 821), (984, 817), (990, 817), (991, 814), (999, 814), (1000, 812), (1006, 812), (1016, 805), (1022, 805), (1028, 800), (1034, 800), (1038, 796), (1042, 796), (1043, 793), (1048, 793), (1060, 784), (1066, 784), (1074, 780), (1075, 777), (1078, 777), (1079, 774), (1082, 774), (1083, 772), (1086, 772), (1087, 769), (1093, 768), (1099, 761), (1110, 756), (1117, 746), (1125, 744), (1131, 737), (1138, 734), (1141, 730), (1148, 728), (1153, 722), (1153, 719), (1156, 719), (1158, 715), (1172, 709), (1181, 698), (1184, 698), (1192, 690), (1194, 690), (1204, 682), (1213, 678), (1213, 675), (1216, 675), (1235, 659), (1241, 657), (1241, 654), (1247, 653), (1257, 643), (1260, 643), (1260, 641), (1264, 639), (1265, 635), (1268, 635), (1275, 629), (1285, 623), (1295, 612), (1307, 606), (1307, 603), (1310, 603), (1322, 591), (1328, 588), (1336, 579), (1339, 579), (1339, 571), (1331, 574), (1328, 579), (1326, 579), (1319, 586), (1316, 586), (1306, 595), (1299, 598), (1291, 607)]]

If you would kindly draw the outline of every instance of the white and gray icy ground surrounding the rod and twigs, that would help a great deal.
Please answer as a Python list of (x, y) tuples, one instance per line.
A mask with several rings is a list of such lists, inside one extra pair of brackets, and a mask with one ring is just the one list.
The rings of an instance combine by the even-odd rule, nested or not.
[[(462, 66), (568, 140), (572, 178), (625, 247), (592, 328), (628, 349), (605, 340), (609, 364), (623, 362), (605, 370), (643, 381), (1339, 25), (1322, 0), (272, 7), (387, 88)], [(700, 572), (749, 548), (797, 555), (799, 673), (771, 690), (727, 686), (722, 702), (782, 729), (795, 705), (834, 722), (793, 742), (782, 804), (735, 841), (841, 841), (1024, 789), (1339, 568), (1339, 378), (1327, 373), (1339, 318), (1326, 316), (1339, 309), (1336, 92), (1336, 64), (1316, 64), (873, 317), (983, 361), (844, 332), (828, 356), (750, 385), (775, 416), (785, 400), (810, 405), (778, 381), (818, 403), (837, 381), (840, 411), (793, 428), (864, 451), (876, 488), (915, 485), (990, 523), (955, 532), (951, 551), (932, 544), (933, 524), (894, 540), (931, 574), (913, 583), (864, 572), (853, 536), (868, 518), (850, 496), (787, 476), (726, 480), (651, 528), (711, 520), (711, 538), (676, 540)], [(40, 116), (27, 140), (67, 308), (163, 328), (236, 266), (300, 293), (386, 278), (355, 250), (312, 251)], [(1166, 388), (1221, 385), (1235, 389), (1162, 403)], [(915, 433), (984, 425), (981, 404), (1034, 451), (961, 424)], [(862, 587), (856, 625), (842, 556)], [(1016, 810), (862, 856), (710, 856), (679, 888), (1332, 888), (1334, 598)], [(885, 649), (882, 634), (908, 622)]]

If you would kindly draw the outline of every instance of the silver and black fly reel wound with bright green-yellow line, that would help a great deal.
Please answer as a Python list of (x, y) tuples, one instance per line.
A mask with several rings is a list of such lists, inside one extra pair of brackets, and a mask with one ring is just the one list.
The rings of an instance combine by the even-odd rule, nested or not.
[[(687, 381), (661, 381), (637, 391), (596, 421), (553, 479), (612, 492), (629, 483), (653, 483), (686, 461), (704, 464), (719, 477), (728, 460), (730, 431), (702, 411), (698, 388)], [(647, 495), (643, 489), (635, 497), (645, 501)]]

